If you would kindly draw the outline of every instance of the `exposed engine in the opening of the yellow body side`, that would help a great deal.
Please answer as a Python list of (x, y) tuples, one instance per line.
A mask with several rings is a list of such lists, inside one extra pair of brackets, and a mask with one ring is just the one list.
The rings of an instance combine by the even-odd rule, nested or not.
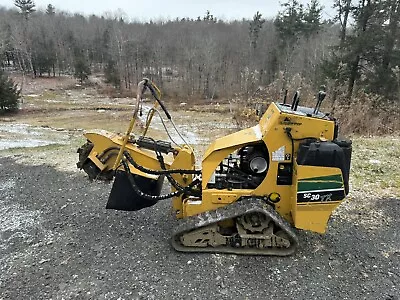
[(267, 175), (268, 162), (268, 150), (264, 143), (245, 146), (219, 164), (207, 187), (255, 189)]

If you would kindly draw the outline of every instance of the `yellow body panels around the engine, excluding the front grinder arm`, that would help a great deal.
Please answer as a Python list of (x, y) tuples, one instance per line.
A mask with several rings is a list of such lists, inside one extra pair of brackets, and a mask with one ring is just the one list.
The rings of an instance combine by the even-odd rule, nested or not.
[[(205, 211), (215, 210), (228, 205), (242, 196), (268, 197), (273, 193), (280, 195), (276, 210), (295, 227), (323, 233), (332, 211), (342, 200), (307, 203), (297, 202), (297, 189), (302, 181), (337, 175), (341, 178), (339, 168), (299, 166), (292, 157), (291, 140), (286, 135), (291, 129), (293, 138), (303, 139), (313, 137), (321, 140), (333, 140), (334, 122), (325, 119), (299, 116), (285, 113), (272, 103), (264, 113), (258, 125), (231, 135), (222, 137), (213, 142), (204, 154), (202, 162), (202, 198), (186, 200), (182, 203), (174, 202), (177, 211), (183, 211), (182, 217), (196, 215)], [(265, 179), (254, 190), (235, 189), (207, 189), (207, 183), (213, 176), (220, 162), (229, 154), (243, 146), (264, 142), (271, 153), (269, 168)], [(294, 142), (293, 153), (298, 150), (299, 142)], [(283, 150), (282, 150), (283, 149)], [(277, 153), (279, 151), (280, 153)], [(283, 156), (282, 156), (283, 153)], [(291, 185), (277, 185), (279, 163), (293, 163), (293, 180)], [(338, 178), (339, 178), (338, 177)], [(344, 190), (343, 181), (339, 185)], [(315, 190), (318, 190), (315, 185)], [(179, 215), (179, 214), (178, 214)]]

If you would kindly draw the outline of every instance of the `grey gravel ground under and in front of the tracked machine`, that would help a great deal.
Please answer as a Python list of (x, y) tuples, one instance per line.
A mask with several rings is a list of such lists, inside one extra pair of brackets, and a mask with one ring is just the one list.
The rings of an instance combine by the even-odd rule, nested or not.
[(83, 172), (0, 168), (0, 300), (400, 299), (398, 199), (344, 203), (290, 257), (184, 254), (168, 201), (107, 211), (111, 185)]

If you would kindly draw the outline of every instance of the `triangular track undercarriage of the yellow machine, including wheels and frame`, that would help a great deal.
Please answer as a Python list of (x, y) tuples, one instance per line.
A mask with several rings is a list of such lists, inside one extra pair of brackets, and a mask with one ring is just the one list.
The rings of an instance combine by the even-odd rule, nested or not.
[(298, 245), (290, 224), (258, 198), (241, 199), (181, 222), (172, 245), (182, 252), (286, 256)]

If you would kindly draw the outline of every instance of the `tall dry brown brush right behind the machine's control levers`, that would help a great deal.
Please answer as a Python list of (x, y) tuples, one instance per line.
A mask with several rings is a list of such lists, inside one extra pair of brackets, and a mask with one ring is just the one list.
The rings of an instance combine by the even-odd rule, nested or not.
[[(247, 100), (242, 100), (236, 106), (234, 119), (238, 127), (248, 127), (258, 120), (257, 110), (264, 110), (272, 101), (282, 102), (284, 79), (278, 78), (268, 87), (261, 88)], [(300, 105), (314, 107), (317, 92), (300, 76), (294, 76), (288, 83), (287, 102), (291, 103), (296, 90), (300, 91)], [(391, 135), (400, 133), (400, 103), (388, 102), (377, 95), (369, 95), (359, 91), (349, 101), (345, 91), (340, 88), (337, 98), (333, 101), (332, 85), (328, 86), (327, 97), (322, 103), (321, 111), (335, 117), (342, 134), (358, 135)]]

